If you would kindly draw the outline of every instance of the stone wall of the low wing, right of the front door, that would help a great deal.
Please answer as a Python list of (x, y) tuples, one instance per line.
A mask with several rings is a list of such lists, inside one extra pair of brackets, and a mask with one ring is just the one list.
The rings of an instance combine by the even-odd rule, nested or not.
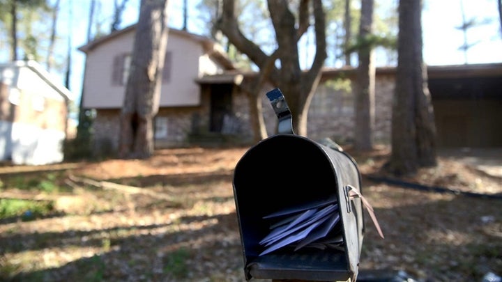
[[(374, 141), (388, 143), (390, 141), (391, 107), (394, 91), (394, 76), (378, 75), (375, 81), (375, 131)], [(342, 88), (340, 87), (342, 84)], [(326, 137), (338, 143), (351, 142), (354, 139), (354, 97), (352, 81), (343, 81), (338, 84), (324, 83), (317, 88), (316, 94), (310, 104), (307, 135), (313, 140)], [(235, 93), (233, 107), (236, 116), (243, 121), (243, 132), (252, 138), (252, 128), (249, 122), (249, 101), (245, 95)], [(267, 133), (275, 133), (277, 117), (266, 95), (261, 99)]]

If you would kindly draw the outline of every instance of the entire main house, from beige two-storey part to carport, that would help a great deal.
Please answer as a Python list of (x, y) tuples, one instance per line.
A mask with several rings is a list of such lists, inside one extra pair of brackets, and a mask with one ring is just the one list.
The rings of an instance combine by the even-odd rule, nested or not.
[[(135, 26), (79, 48), (86, 54), (84, 109), (95, 109), (95, 148), (118, 146)], [(502, 146), (502, 64), (429, 66), (439, 146)], [(343, 143), (353, 140), (355, 68), (324, 69), (310, 104), (308, 136)], [(154, 121), (155, 147), (252, 143), (249, 100), (241, 89), (256, 73), (240, 72), (218, 45), (201, 36), (169, 30), (160, 109)], [(377, 68), (375, 140), (390, 142), (395, 68)], [(263, 93), (270, 90), (266, 86)], [(277, 118), (262, 98), (268, 134)]]

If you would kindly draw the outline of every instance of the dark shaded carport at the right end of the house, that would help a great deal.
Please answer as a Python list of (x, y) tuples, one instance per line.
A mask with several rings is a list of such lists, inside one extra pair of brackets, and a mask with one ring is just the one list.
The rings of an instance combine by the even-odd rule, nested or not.
[(502, 64), (429, 66), (438, 145), (502, 146)]

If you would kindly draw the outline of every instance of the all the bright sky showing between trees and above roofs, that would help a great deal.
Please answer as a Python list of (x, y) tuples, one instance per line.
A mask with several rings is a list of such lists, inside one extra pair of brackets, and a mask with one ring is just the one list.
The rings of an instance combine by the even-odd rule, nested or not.
[[(102, 22), (102, 30), (109, 31), (109, 22), (113, 15), (112, 0), (96, 0), (101, 3), (95, 15)], [(200, 0), (188, 0), (189, 15), (197, 13), (194, 8)], [(397, 0), (375, 0), (382, 6), (389, 6)], [(89, 21), (89, 7), (91, 0), (63, 0), (61, 1), (57, 32), (61, 38), (70, 38), (72, 54), (72, 68), (70, 70), (70, 91), (75, 95), (77, 104), (82, 91), (82, 77), (84, 73), (85, 55), (77, 48), (86, 44), (86, 33)], [(123, 14), (122, 27), (135, 24), (138, 19), (139, 0), (128, 0), (127, 8)], [(181, 29), (183, 24), (183, 1), (169, 1), (169, 25)], [(502, 36), (499, 31), (499, 14), (496, 0), (425, 0), (423, 10), (423, 57), (428, 65), (456, 65), (464, 63), (500, 63), (502, 62)], [(456, 29), (462, 24), (462, 6), (466, 20), (476, 18), (492, 19), (489, 24), (483, 24), (466, 33), (469, 44), (476, 43), (467, 54), (459, 51), (459, 46), (464, 44), (464, 33)], [(71, 8), (70, 8), (71, 7)], [(188, 23), (188, 30), (197, 33), (197, 27)], [(68, 40), (68, 39), (66, 39)], [(59, 49), (61, 54), (66, 54), (67, 44)], [(5, 54), (0, 54), (2, 61), (6, 60)], [(466, 61), (467, 60), (467, 61)], [(377, 65), (385, 65), (379, 62)], [(61, 81), (64, 74), (56, 74)]]

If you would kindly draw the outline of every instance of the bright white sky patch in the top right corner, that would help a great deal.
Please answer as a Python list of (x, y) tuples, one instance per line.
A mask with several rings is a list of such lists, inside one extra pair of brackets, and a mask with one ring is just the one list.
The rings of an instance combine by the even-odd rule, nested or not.
[[(467, 32), (467, 52), (458, 47), (464, 44), (464, 33), (456, 26), (462, 25), (462, 5), (466, 20), (493, 19)], [(429, 65), (454, 65), (463, 63), (502, 62), (502, 37), (496, 0), (428, 0), (423, 10), (423, 56)]]

